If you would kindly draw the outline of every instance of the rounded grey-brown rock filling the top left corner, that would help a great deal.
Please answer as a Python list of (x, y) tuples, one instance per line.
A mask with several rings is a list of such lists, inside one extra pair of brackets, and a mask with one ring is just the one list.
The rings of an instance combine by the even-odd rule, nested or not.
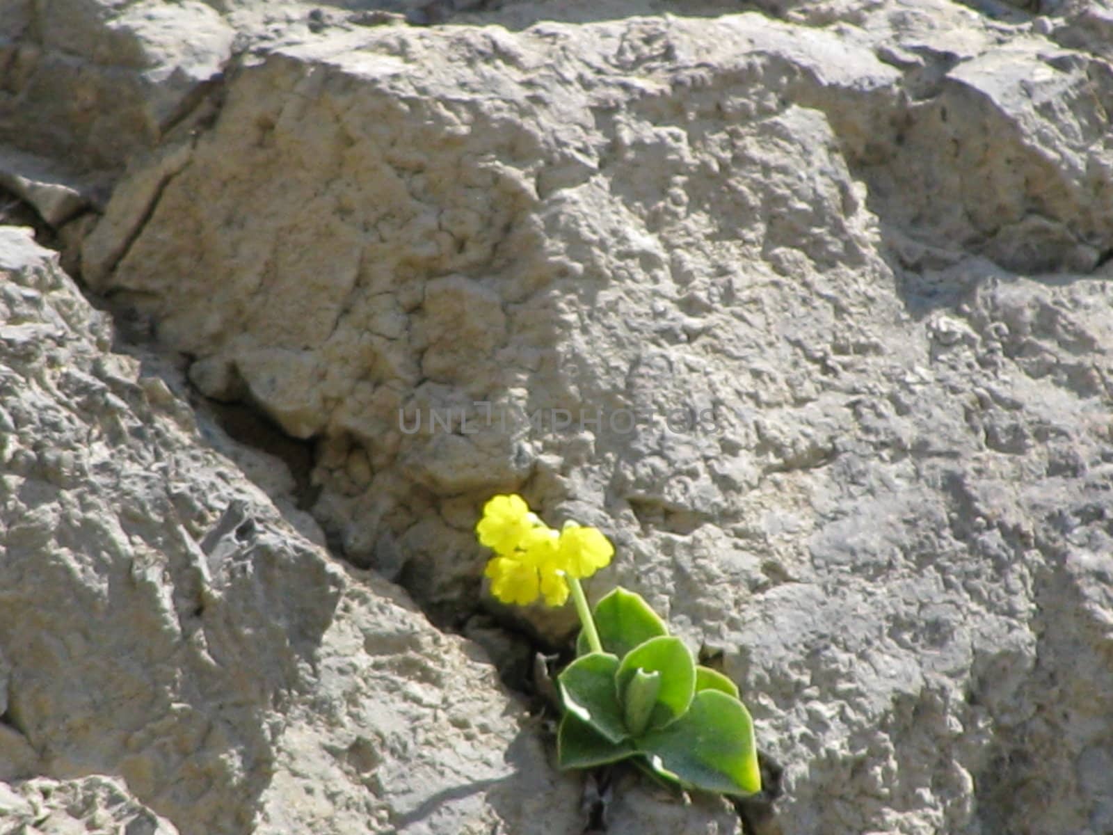
[(196, 104), (234, 38), (199, 0), (0, 0), (0, 143), (120, 169)]

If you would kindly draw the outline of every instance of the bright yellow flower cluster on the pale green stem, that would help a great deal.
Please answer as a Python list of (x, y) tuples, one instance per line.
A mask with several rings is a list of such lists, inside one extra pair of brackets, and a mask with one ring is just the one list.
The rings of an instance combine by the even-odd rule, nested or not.
[(491, 593), (504, 603), (528, 606), (544, 597), (549, 606), (561, 606), (568, 600), (568, 578), (591, 577), (614, 556), (614, 547), (595, 528), (565, 522), (554, 531), (520, 495), (492, 498), (475, 532), (494, 550), (484, 573)]

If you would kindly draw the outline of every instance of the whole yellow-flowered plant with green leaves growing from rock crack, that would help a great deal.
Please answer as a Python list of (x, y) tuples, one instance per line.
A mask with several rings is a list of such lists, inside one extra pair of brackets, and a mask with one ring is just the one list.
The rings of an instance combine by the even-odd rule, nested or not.
[(633, 758), (681, 788), (761, 790), (754, 726), (735, 684), (697, 665), (641, 596), (619, 587), (594, 612), (588, 606), (580, 580), (614, 554), (600, 531), (575, 522), (552, 530), (519, 495), (492, 498), (475, 530), (494, 551), (491, 593), (518, 606), (562, 606), (571, 595), (580, 616), (577, 658), (556, 677), (561, 768)]

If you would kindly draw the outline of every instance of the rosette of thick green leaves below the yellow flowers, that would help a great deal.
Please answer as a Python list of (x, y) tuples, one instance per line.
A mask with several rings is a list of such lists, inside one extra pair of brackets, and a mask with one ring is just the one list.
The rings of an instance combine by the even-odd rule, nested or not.
[(619, 587), (594, 610), (602, 652), (581, 635), (558, 676), (562, 768), (634, 757), (682, 788), (746, 796), (761, 790), (749, 711), (735, 684), (697, 665), (641, 598)]

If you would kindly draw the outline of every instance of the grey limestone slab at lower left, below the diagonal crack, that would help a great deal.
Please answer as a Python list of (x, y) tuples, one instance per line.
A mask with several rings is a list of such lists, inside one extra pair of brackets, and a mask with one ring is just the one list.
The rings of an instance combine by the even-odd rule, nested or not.
[(27, 230), (0, 227), (0, 273), (6, 827), (575, 827), (578, 782), (475, 645), (299, 536)]

